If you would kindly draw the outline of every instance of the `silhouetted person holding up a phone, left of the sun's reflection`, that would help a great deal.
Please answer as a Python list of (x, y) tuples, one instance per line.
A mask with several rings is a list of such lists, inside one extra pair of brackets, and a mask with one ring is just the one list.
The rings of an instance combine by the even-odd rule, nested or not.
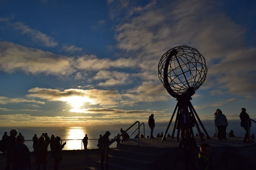
[(60, 137), (57, 136), (54, 139), (54, 149), (53, 149), (53, 160), (54, 160), (54, 170), (59, 169), (60, 161), (62, 160), (62, 153), (61, 150), (64, 148), (66, 142), (64, 144), (60, 144)]

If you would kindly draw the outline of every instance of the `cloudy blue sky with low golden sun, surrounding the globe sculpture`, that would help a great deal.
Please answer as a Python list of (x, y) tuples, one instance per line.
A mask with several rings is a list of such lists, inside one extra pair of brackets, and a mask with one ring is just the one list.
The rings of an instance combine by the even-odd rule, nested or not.
[(0, 0), (0, 126), (168, 122), (176, 99), (158, 78), (186, 45), (208, 72), (192, 96), (201, 120), (217, 108), (256, 118), (256, 1)]

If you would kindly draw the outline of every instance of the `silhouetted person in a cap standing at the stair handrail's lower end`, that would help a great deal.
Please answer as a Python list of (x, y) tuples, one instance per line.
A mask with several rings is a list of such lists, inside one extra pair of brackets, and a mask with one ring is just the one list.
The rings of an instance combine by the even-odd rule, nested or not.
[[(109, 131), (106, 131), (106, 133), (100, 138), (99, 149), (100, 149), (100, 168), (101, 168), (101, 170), (104, 169), (106, 147), (108, 146), (108, 144), (110, 144), (116, 138), (116, 137), (114, 137), (114, 139), (109, 140), (110, 135), (111, 135), (111, 133)], [(107, 159), (106, 159), (105, 164), (107, 164), (107, 162), (108, 162), (108, 153), (109, 153), (109, 147), (107, 148)]]

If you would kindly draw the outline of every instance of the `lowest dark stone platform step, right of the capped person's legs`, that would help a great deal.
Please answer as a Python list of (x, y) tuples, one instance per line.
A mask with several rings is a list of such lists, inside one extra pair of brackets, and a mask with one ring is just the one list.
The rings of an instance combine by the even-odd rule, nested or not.
[(138, 168), (138, 169), (153, 169), (155, 162), (151, 161), (145, 161), (145, 160), (138, 160), (138, 159), (132, 159), (132, 158), (126, 158), (125, 156), (121, 157), (113, 157), (111, 155), (108, 156), (108, 162), (109, 164), (113, 165), (122, 165), (127, 166), (131, 168)]

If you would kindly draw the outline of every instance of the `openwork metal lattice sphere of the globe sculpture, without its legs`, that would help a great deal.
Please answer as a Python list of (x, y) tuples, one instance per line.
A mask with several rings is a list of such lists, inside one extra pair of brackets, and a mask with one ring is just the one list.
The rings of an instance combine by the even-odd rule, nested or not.
[[(165, 79), (164, 69), (167, 69)], [(204, 83), (206, 74), (204, 57), (195, 48), (188, 46), (178, 46), (166, 51), (158, 64), (160, 81), (169, 93), (172, 91), (174, 95), (170, 94), (176, 98), (185, 95), (191, 89), (196, 91)], [(165, 80), (168, 81), (164, 82)]]

